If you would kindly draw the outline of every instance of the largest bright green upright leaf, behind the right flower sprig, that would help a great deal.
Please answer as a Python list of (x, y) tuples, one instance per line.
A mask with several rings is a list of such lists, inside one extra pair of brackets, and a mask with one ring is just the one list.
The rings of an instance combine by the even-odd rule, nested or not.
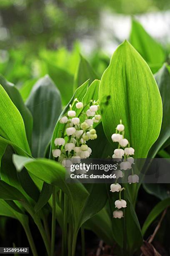
[(148, 65), (128, 41), (117, 48), (102, 75), (99, 102), (107, 139), (112, 142), (122, 119), (135, 157), (145, 158), (160, 133), (162, 101)]

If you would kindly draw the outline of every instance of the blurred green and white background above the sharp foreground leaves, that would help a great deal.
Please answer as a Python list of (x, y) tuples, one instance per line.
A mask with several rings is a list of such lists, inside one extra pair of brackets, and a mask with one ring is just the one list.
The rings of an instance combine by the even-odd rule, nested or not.
[[(0, 73), (24, 100), (37, 79), (49, 74), (66, 104), (80, 71), (80, 53), (100, 78), (117, 45), (129, 39), (132, 17), (169, 53), (169, 9), (169, 0), (0, 0)], [(131, 39), (139, 45), (139, 38)], [(162, 59), (147, 59), (145, 49), (136, 48), (153, 73), (167, 60), (162, 53)]]

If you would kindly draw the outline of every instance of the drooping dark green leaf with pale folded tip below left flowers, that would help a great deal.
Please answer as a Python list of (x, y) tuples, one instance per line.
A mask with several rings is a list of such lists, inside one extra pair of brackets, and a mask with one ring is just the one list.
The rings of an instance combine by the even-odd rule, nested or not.
[(65, 192), (72, 205), (73, 222), (75, 229), (78, 229), (80, 212), (89, 196), (89, 193), (81, 183), (69, 184), (65, 182), (65, 168), (56, 161), (47, 159), (29, 159), (23, 156), (13, 155), (13, 162), (20, 171), (23, 166), (28, 172), (34, 174), (37, 178), (56, 185)]

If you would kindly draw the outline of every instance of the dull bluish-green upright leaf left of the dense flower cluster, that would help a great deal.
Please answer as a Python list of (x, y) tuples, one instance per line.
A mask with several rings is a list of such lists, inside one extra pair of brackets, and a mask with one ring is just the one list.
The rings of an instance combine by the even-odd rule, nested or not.
[(61, 113), (60, 92), (49, 76), (36, 82), (26, 105), (33, 117), (32, 155), (43, 157)]

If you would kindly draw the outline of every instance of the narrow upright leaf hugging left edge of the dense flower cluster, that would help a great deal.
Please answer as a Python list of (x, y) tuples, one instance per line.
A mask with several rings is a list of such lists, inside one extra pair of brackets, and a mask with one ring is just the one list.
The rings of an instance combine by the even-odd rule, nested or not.
[[(59, 138), (62, 136), (61, 131), (64, 128), (64, 124), (61, 124), (59, 122), (60, 117), (62, 117), (63, 115), (65, 115), (65, 113), (67, 113), (67, 111), (69, 110), (69, 105), (72, 104), (72, 102), (75, 98), (77, 98), (79, 101), (82, 101), (83, 97), (85, 96), (85, 94), (87, 92), (87, 89), (88, 89), (88, 81), (86, 81), (84, 84), (82, 84), (80, 87), (77, 88), (77, 90), (75, 91), (74, 95), (72, 96), (70, 102), (68, 102), (67, 106), (64, 108), (64, 110), (62, 110), (62, 113), (57, 120), (55, 129), (54, 129), (54, 132), (52, 135), (51, 148), (50, 148), (50, 158), (51, 159), (53, 159), (52, 149), (55, 148), (54, 140), (55, 140), (55, 138)], [(75, 106), (73, 106), (72, 110), (75, 110)]]

